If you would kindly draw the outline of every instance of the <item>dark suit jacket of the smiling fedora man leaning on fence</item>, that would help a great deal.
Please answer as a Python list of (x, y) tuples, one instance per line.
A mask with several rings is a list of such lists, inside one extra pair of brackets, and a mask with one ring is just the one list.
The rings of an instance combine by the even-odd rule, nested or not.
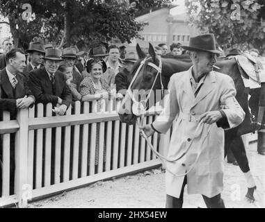
[(53, 87), (45, 67), (35, 69), (29, 73), (29, 88), (33, 92), (37, 103), (52, 103), (56, 105), (58, 97), (60, 97), (63, 100), (63, 104), (67, 105), (68, 108), (72, 102), (72, 93), (65, 83), (63, 73), (56, 71), (54, 77), (55, 83)]

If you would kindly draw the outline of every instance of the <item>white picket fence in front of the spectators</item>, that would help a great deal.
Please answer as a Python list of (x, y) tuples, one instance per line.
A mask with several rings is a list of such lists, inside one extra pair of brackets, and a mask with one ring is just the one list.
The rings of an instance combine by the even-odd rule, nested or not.
[[(51, 104), (39, 103), (0, 121), (2, 146), (2, 197), (0, 207), (37, 200), (99, 180), (159, 167), (161, 162), (139, 136), (137, 126), (121, 123), (120, 104), (109, 101), (74, 104), (63, 117), (52, 116)], [(158, 112), (145, 116), (151, 123)], [(10, 195), (10, 135), (15, 133), (15, 194)], [(165, 137), (166, 138), (166, 137)], [(157, 133), (154, 148), (169, 142)], [(159, 145), (160, 143), (160, 145)], [(12, 143), (11, 143), (12, 144)], [(96, 148), (97, 147), (97, 148)], [(163, 153), (163, 151), (160, 150)], [(95, 163), (97, 162), (97, 163)]]

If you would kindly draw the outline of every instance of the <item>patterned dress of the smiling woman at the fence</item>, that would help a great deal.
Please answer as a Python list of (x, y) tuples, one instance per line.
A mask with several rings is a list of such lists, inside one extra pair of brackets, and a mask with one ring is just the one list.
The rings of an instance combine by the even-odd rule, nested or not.
[[(83, 81), (80, 84), (80, 94), (81, 96), (86, 96), (88, 94), (95, 95), (102, 92), (111, 92), (111, 87), (108, 85), (106, 80), (104, 78), (101, 78), (100, 80), (101, 87), (97, 88), (95, 85), (93, 79), (88, 76), (83, 79)], [(101, 103), (97, 103), (97, 110), (100, 110)], [(99, 126), (100, 123), (97, 123), (97, 139), (96, 139), (96, 154), (95, 154), (95, 165), (98, 165), (99, 163)], [(90, 152), (89, 152), (90, 153)], [(104, 162), (106, 162), (106, 146), (104, 144)]]

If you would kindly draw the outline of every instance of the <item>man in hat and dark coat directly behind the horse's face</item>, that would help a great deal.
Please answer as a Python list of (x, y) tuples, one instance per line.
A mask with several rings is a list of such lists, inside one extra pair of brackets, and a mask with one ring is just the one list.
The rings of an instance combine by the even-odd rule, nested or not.
[(125, 95), (127, 92), (127, 89), (131, 83), (131, 78), (129, 76), (130, 71), (132, 67), (134, 67), (135, 62), (137, 61), (136, 53), (129, 52), (125, 55), (125, 59), (122, 60), (125, 64), (125, 69), (120, 71), (115, 76), (115, 84), (116, 84), (116, 90), (118, 93)]

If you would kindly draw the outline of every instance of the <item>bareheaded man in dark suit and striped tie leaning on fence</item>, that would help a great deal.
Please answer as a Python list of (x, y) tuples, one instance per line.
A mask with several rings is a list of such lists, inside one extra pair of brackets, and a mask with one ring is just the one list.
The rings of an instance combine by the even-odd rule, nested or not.
[[(26, 78), (20, 74), (26, 66), (25, 62), (26, 56), (22, 49), (11, 49), (6, 53), (6, 68), (0, 71), (0, 121), (2, 121), (1, 114), (3, 111), (10, 112), (10, 118), (15, 119), (18, 109), (29, 108), (35, 101), (35, 97), (26, 85)], [(0, 141), (0, 154), (2, 151), (1, 144)], [(0, 175), (0, 196), (1, 178)], [(14, 192), (14, 180), (15, 133), (10, 135), (10, 194)]]

